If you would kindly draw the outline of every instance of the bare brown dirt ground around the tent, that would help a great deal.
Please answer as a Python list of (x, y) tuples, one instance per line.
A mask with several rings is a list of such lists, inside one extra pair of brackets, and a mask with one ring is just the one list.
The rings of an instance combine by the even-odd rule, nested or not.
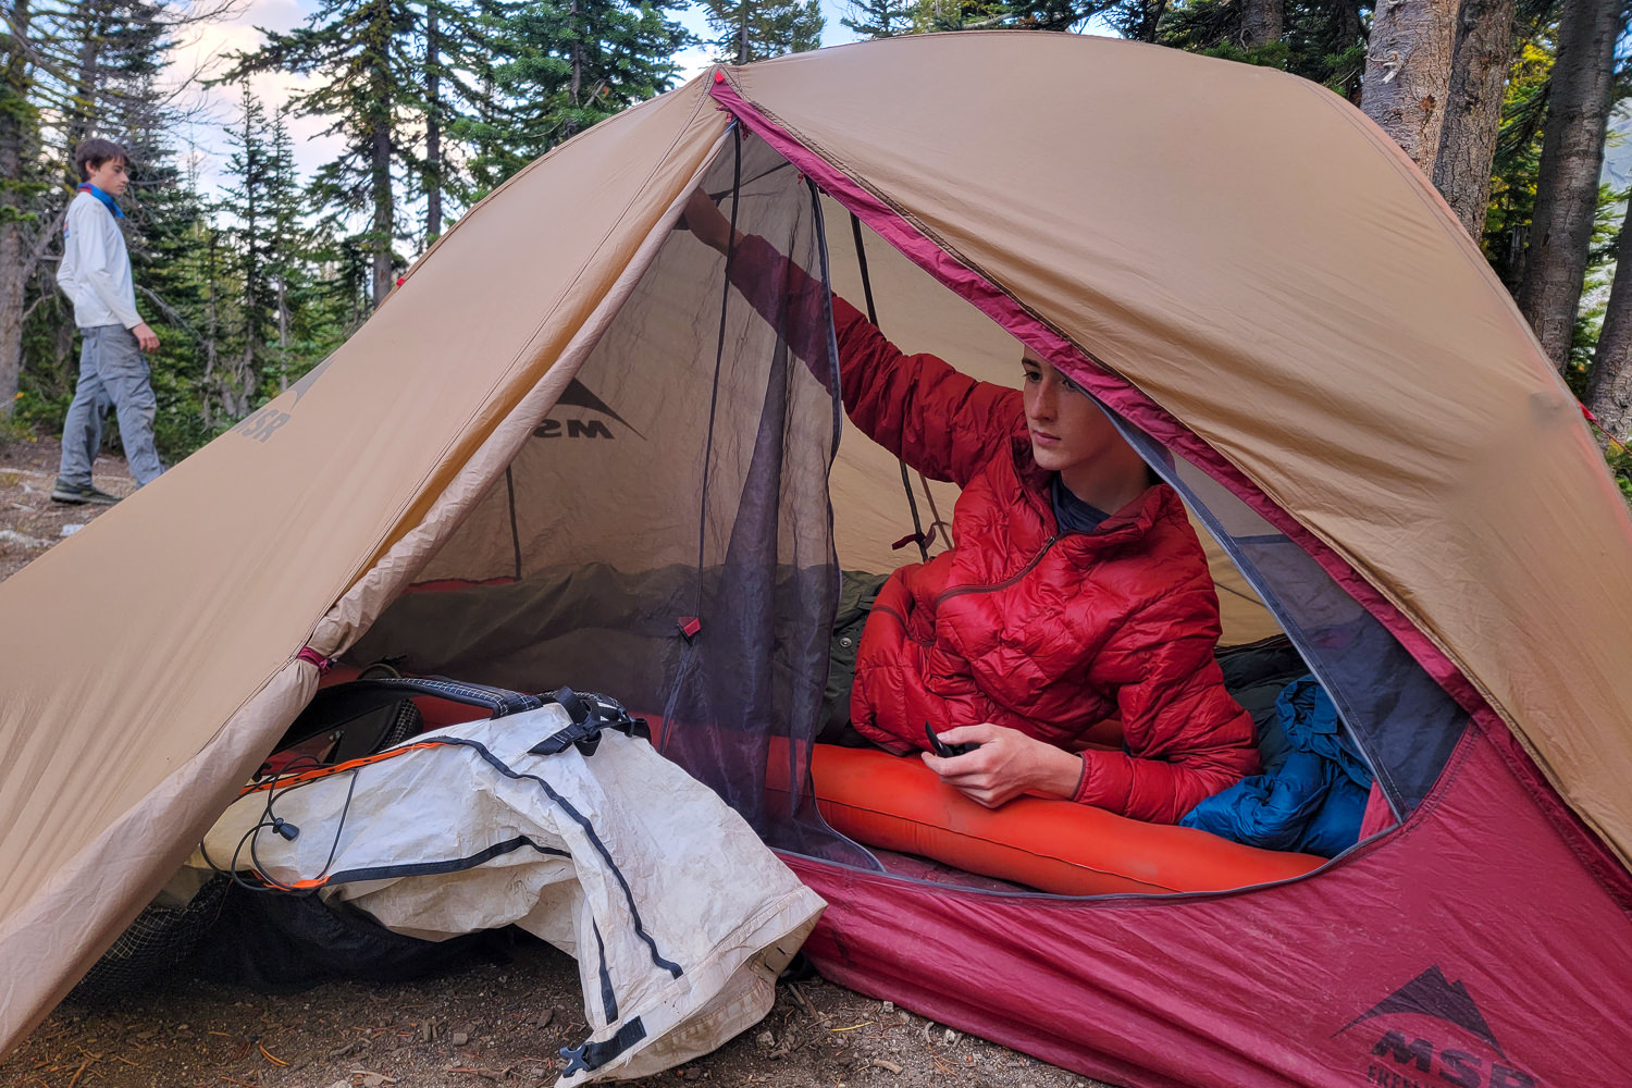
[[(0, 444), (0, 579), (108, 507), (51, 501), (57, 444)], [(129, 494), (122, 460), (96, 486)], [(184, 979), (113, 1006), (62, 1006), (3, 1064), (7, 1088), (534, 1088), (584, 1039), (576, 964), (530, 940), (506, 962), (411, 984), (336, 982), (263, 995)], [(756, 1028), (720, 1050), (648, 1077), (656, 1088), (1108, 1088), (925, 1021), (888, 1002), (806, 979), (785, 982)], [(628, 1083), (628, 1081), (612, 1081)]]

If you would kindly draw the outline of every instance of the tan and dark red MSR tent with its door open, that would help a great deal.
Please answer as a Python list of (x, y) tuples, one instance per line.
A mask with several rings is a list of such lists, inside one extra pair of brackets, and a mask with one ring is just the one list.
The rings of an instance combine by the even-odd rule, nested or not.
[[(916, 879), (827, 832), (800, 783), (834, 566), (901, 563), (906, 502), (839, 440), (832, 375), (672, 230), (698, 184), (850, 299), (860, 245), (904, 346), (1005, 375), (1018, 338), (1090, 390), (1250, 584), (1244, 623), (1322, 679), (1389, 827), (1299, 879), (1089, 899)], [(831, 904), (827, 977), (1084, 1073), (1632, 1062), (1632, 519), (1446, 206), (1278, 72), (1022, 33), (713, 70), (516, 176), (0, 615), (8, 1046), (315, 662), (390, 651), (663, 713), (666, 754)]]

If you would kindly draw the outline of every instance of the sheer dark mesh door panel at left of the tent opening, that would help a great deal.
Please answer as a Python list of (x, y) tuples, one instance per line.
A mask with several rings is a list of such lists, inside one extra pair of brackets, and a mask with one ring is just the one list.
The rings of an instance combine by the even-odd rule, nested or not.
[[(743, 139), (703, 188), (826, 282), (819, 204), (782, 157)], [(725, 264), (687, 232), (664, 243), (419, 592), (351, 657), (604, 692), (661, 719), (664, 754), (772, 845), (871, 866), (808, 788), (839, 592), (831, 316), (777, 290), (759, 313)]]

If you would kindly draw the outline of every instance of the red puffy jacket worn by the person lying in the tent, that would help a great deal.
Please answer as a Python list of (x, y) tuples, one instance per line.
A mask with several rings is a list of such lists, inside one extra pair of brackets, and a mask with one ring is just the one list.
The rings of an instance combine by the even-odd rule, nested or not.
[[(816, 287), (759, 238), (731, 279), (754, 299), (777, 272), (788, 295)], [(925, 723), (989, 721), (1077, 749), (1120, 718), (1126, 752), (1084, 750), (1074, 799), (1164, 824), (1257, 773), (1252, 718), (1213, 659), (1213, 577), (1173, 489), (1146, 488), (1092, 533), (1059, 533), (1018, 390), (902, 354), (844, 299), (832, 315), (850, 419), (963, 488), (955, 546), (898, 569), (867, 620), (857, 731), (922, 749)]]

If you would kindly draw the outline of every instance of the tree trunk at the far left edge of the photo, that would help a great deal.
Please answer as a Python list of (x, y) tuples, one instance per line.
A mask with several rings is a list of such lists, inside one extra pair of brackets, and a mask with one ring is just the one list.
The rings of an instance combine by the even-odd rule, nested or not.
[(0, 419), (10, 419), (23, 372), (23, 303), (29, 266), (23, 261), (23, 117), (28, 104), (28, 0), (11, 15), (11, 49), (0, 70)]

